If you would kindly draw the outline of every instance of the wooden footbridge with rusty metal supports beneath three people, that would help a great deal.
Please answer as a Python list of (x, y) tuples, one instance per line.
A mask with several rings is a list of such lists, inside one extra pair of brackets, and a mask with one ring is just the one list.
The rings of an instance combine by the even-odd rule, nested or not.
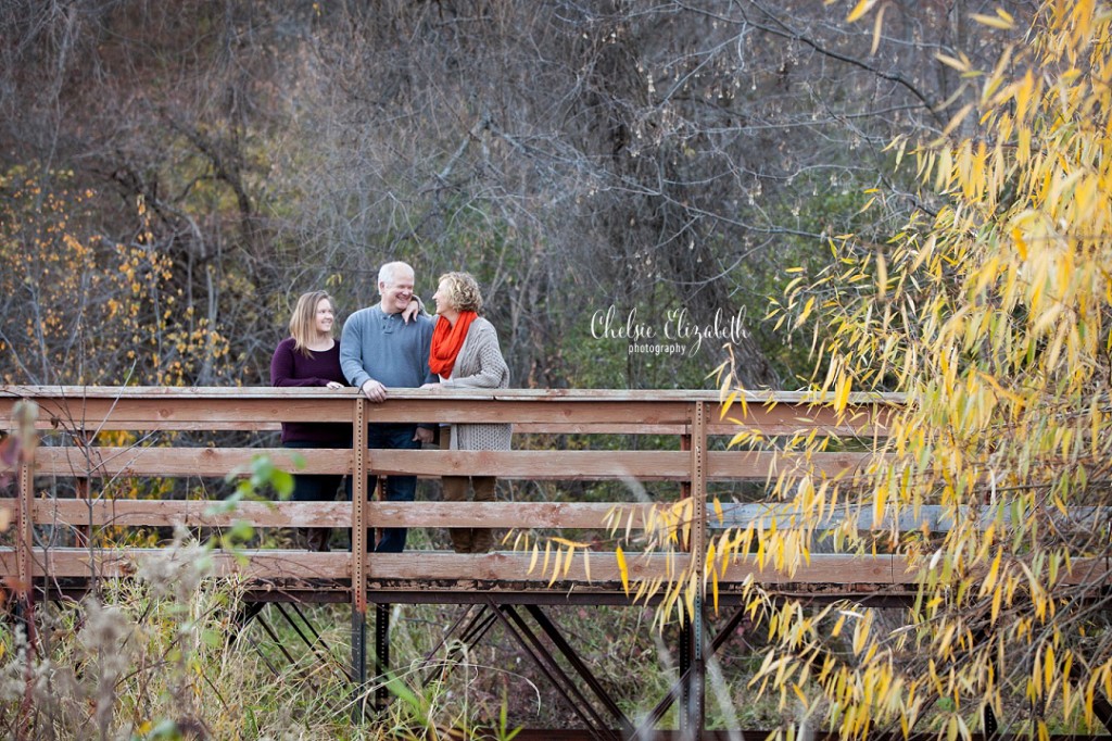
[[(370, 404), (354, 389), (3, 387), (0, 424), (4, 428), (20, 423), (17, 405), (21, 399), (33, 401), (38, 407), (37, 418), (23, 423), (33, 424), (41, 444), (8, 465), (9, 474), (14, 475), (17, 496), (0, 500), (0, 510), (14, 513), (16, 527), (7, 546), (0, 549), (0, 575), (11, 583), (33, 586), (22, 592), (24, 611), (32, 609), (34, 600), (79, 595), (91, 580), (135, 574), (146, 560), (159, 555), (159, 549), (106, 547), (101, 535), (105, 528), (228, 528), (239, 522), (256, 528), (345, 528), (351, 535), (350, 551), (217, 550), (212, 555), (216, 571), (246, 580), (246, 599), (256, 605), (349, 602), (351, 676), (357, 683), (368, 681), (369, 609), (374, 607), (376, 614), (374, 656), (376, 670), (381, 672), (389, 662), (389, 611), (385, 605), (479, 605), (457, 625), (464, 639), (477, 640), (490, 624), (502, 624), (556, 684), (595, 738), (646, 738), (638, 737), (638, 732), (645, 733), (676, 701), (682, 703), (681, 732), (697, 734), (703, 727), (707, 652), (717, 650), (734, 632), (742, 611), (735, 609), (735, 618), (711, 636), (705, 634), (707, 624), (701, 618), (702, 610), (697, 610), (697, 618), (687, 624), (681, 639), (681, 680), (638, 729), (548, 620), (545, 606), (628, 605), (632, 599), (625, 577), (664, 579), (686, 567), (703, 574), (705, 543), (713, 528), (744, 525), (753, 518), (786, 520), (791, 514), (759, 502), (725, 505), (722, 513), (706, 511), (708, 491), (745, 485), (759, 491), (784, 466), (793, 465), (791, 458), (773, 451), (727, 449), (725, 439), (737, 432), (738, 422), (723, 418), (719, 398), (713, 392), (398, 391), (385, 404)], [(768, 436), (814, 433), (860, 438), (856, 449), (861, 452), (823, 453), (807, 462), (812, 472), (847, 475), (867, 465), (870, 443), (884, 435), (887, 415), (900, 404), (893, 397), (854, 402), (848, 413), (840, 416), (828, 407), (806, 403), (800, 394), (751, 395), (743, 423)], [(742, 412), (742, 405), (735, 404), (729, 416)], [(416, 419), (513, 423), (515, 448), (529, 449), (367, 449), (367, 423)], [(351, 425), (351, 449), (298, 451), (305, 463), (301, 473), (353, 475), (350, 502), (242, 502), (225, 510), (214, 507), (212, 501), (112, 495), (118, 487), (111, 483), (125, 477), (246, 475), (260, 455), (278, 467), (294, 470), (290, 451), (259, 447), (260, 441), (275, 436), (258, 433), (295, 421)], [(126, 445), (120, 444), (119, 435), (112, 435), (120, 432), (130, 435)], [(208, 435), (203, 445), (197, 443), (198, 434)], [(568, 439), (564, 437), (568, 435), (577, 441), (605, 441), (606, 449), (552, 444)], [(664, 441), (663, 447), (671, 449), (652, 449), (649, 436), (653, 448), (661, 447)], [(116, 445), (109, 442), (113, 437)], [(526, 442), (528, 445), (524, 445)], [(603, 503), (388, 503), (368, 497), (367, 474), (371, 474), (371, 481), (386, 474), (495, 475), (520, 482), (584, 485), (609, 481), (625, 484), (609, 491), (624, 492), (626, 498)], [(651, 484), (654, 494), (638, 496), (647, 482), (666, 484)], [(605, 535), (602, 523), (608, 513), (622, 513), (623, 530), (626, 524), (637, 528), (644, 526), (649, 507), (679, 502), (691, 505), (685, 552), (673, 556), (626, 553), (626, 574), (606, 545), (577, 551), (553, 576), (533, 563), (527, 551), (377, 554), (368, 552), (366, 542), (368, 527), (483, 526), (557, 534), (587, 530)], [(605, 537), (602, 543), (606, 543)], [(736, 607), (738, 586), (748, 576), (774, 592), (805, 594), (814, 601), (850, 597), (894, 604), (903, 603), (912, 593), (912, 575), (900, 556), (813, 554), (810, 563), (791, 576), (761, 570), (754, 562), (732, 565), (719, 581), (719, 604)], [(548, 641), (540, 640), (542, 635)]]

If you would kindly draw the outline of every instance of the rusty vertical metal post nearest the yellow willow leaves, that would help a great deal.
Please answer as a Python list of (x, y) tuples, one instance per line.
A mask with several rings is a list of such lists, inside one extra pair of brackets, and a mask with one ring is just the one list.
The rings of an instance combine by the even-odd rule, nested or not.
[(695, 580), (694, 612), (681, 632), (681, 666), (687, 650), (687, 681), (683, 685), (679, 730), (685, 739), (702, 738), (706, 705), (706, 662), (703, 655), (703, 601), (706, 595), (706, 405), (695, 402), (692, 409), (692, 523), (691, 573)]

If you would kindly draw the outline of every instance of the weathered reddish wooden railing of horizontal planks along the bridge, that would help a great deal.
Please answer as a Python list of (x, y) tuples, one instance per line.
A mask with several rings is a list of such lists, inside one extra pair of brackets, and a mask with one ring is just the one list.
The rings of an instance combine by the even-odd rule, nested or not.
[[(42, 435), (42, 444), (32, 461), (9, 466), (8, 473), (14, 474), (18, 491), (16, 496), (0, 500), (0, 508), (17, 515), (12, 518), (18, 527), (7, 537), (6, 547), (0, 549), (0, 574), (23, 582), (43, 576), (66, 580), (127, 575), (159, 551), (103, 547), (98, 533), (106, 527), (222, 528), (247, 522), (258, 528), (351, 528), (364, 523), (369, 527), (598, 531), (604, 530), (606, 514), (616, 507), (622, 508), (622, 522), (628, 521), (636, 528), (644, 523), (647, 507), (691, 496), (694, 503), (691, 555), (679, 556), (679, 563), (675, 559), (666, 563), (659, 555), (627, 554), (631, 579), (663, 576), (669, 570), (686, 566), (684, 559), (699, 560), (708, 530), (721, 526), (717, 515), (705, 511), (708, 486), (718, 482), (765, 483), (784, 466), (794, 465), (790, 457), (776, 457), (772, 451), (725, 449), (722, 436), (738, 431), (737, 417), (743, 417), (741, 423), (746, 427), (768, 436), (815, 431), (818, 435), (860, 438), (856, 445), (860, 452), (822, 453), (807, 463), (812, 472), (845, 475), (864, 470), (871, 442), (884, 435), (887, 415), (900, 403), (893, 397), (858, 398), (848, 414), (838, 416), (828, 407), (808, 404), (800, 394), (751, 394), (744, 414), (743, 406), (734, 404), (728, 415), (734, 418), (723, 418), (714, 392), (397, 391), (386, 403), (371, 404), (354, 389), (4, 387), (0, 388), (0, 426), (11, 428), (13, 409), (20, 399), (36, 403), (34, 426)], [(259, 455), (268, 456), (278, 467), (294, 470), (290, 451), (258, 446), (277, 444), (276, 435), (268, 433), (282, 421), (350, 424), (356, 441), (361, 441), (365, 423), (418, 419), (513, 423), (515, 449), (368, 451), (357, 443), (353, 449), (298, 451), (297, 455), (305, 461), (300, 473), (363, 471), (423, 477), (456, 474), (534, 482), (610, 481), (628, 484), (610, 487), (612, 492), (627, 492), (626, 498), (603, 503), (567, 497), (544, 502), (388, 503), (367, 501), (365, 477), (358, 475), (354, 480), (356, 495), (350, 502), (244, 502), (230, 511), (214, 507), (212, 501), (125, 498), (119, 491), (125, 480), (242, 475)], [(108, 444), (110, 433), (119, 431), (131, 434), (128, 444)], [(235, 443), (198, 446), (197, 433), (217, 439), (230, 437)], [(537, 441), (563, 435), (588, 437), (576, 437), (574, 449), (568, 445), (519, 449), (526, 443), (537, 446)], [(673, 449), (646, 449), (646, 436), (655, 436), (657, 445), (674, 437)], [(605, 441), (607, 449), (590, 449), (590, 441)], [(616, 447), (617, 443), (624, 443), (624, 447)], [(72, 485), (62, 487), (63, 495), (52, 495), (48, 490), (57, 488), (57, 482)], [(635, 495), (644, 482), (671, 482), (674, 486), (666, 486), (668, 493), (646, 502)], [(723, 516), (728, 524), (736, 525), (751, 517), (775, 516), (775, 512), (754, 504), (734, 504), (725, 506)], [(351, 552), (251, 549), (239, 553), (239, 557), (217, 550), (212, 557), (218, 572), (241, 574), (260, 589), (311, 589), (318, 595), (359, 583), (373, 590), (458, 590), (478, 583), (494, 590), (543, 590), (550, 582), (549, 574), (536, 567), (530, 571), (528, 553), (507, 550), (486, 555), (439, 551), (368, 554), (364, 528), (356, 526), (351, 532), (356, 556)], [(566, 573), (562, 570), (553, 587), (566, 589), (570, 584), (579, 590), (619, 590), (620, 575), (613, 554), (593, 553), (589, 561), (589, 579), (585, 559), (579, 556)], [(818, 554), (791, 577), (741, 563), (729, 570), (724, 581), (739, 582), (751, 573), (771, 583), (907, 581), (905, 564), (897, 556)], [(364, 591), (355, 592), (361, 595)], [(357, 596), (356, 601), (361, 603), (363, 597)]]

